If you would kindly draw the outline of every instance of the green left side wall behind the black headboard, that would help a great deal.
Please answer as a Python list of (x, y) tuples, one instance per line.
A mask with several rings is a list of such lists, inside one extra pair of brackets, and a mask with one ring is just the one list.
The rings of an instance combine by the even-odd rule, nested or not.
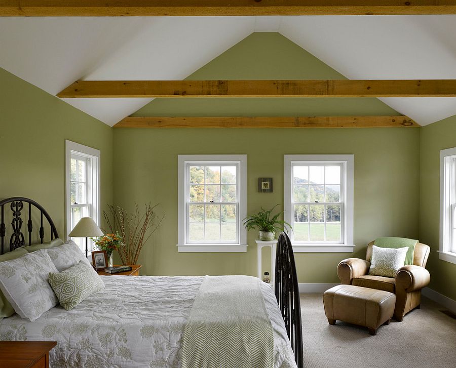
[(65, 236), (65, 139), (101, 151), (105, 206), (113, 192), (112, 128), (0, 68), (0, 198), (36, 200), (60, 237)]

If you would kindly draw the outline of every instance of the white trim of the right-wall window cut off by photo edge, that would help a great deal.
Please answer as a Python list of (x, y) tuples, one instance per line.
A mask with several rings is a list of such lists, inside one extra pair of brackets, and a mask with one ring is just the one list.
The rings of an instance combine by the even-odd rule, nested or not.
[(439, 237), (439, 259), (442, 261), (456, 264), (456, 253), (450, 249), (450, 231), (451, 231), (451, 208), (450, 192), (451, 189), (456, 193), (456, 188), (451, 188), (451, 185), (456, 186), (455, 182), (451, 182), (454, 178), (454, 170), (451, 168), (451, 158), (456, 156), (456, 147), (442, 149), (440, 151), (440, 237)]

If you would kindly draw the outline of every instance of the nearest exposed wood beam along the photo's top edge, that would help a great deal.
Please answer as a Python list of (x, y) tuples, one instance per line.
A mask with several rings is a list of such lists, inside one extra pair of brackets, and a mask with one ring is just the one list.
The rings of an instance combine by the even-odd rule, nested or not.
[(0, 16), (456, 14), (454, 0), (0, 0)]

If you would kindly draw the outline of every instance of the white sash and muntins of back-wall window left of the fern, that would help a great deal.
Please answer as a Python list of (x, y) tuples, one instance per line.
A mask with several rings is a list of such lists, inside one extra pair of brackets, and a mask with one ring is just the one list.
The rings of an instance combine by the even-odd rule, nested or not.
[[(190, 180), (190, 168), (193, 166), (202, 166), (204, 167), (204, 182), (203, 183), (191, 183)], [(220, 183), (206, 183), (206, 167), (220, 167), (220, 173), (223, 167), (236, 167), (236, 183), (235, 184), (224, 184), (222, 183), (222, 178), (220, 176)], [(206, 186), (219, 186), (220, 187), (220, 199), (221, 199), (221, 187), (223, 185), (236, 185), (236, 202), (221, 202), (221, 201), (191, 201), (190, 190), (191, 186), (193, 185), (203, 185), (204, 186), (204, 199), (206, 200)], [(185, 244), (240, 244), (240, 218), (239, 218), (239, 211), (240, 211), (240, 162), (238, 161), (186, 161), (185, 162)], [(203, 205), (203, 222), (191, 222), (190, 221), (190, 211), (189, 206), (191, 205)], [(219, 213), (219, 222), (207, 222), (206, 221), (206, 205), (214, 205), (220, 206), (220, 213)], [(221, 206), (222, 205), (235, 205), (236, 206), (236, 220), (232, 222), (222, 222), (221, 221)], [(236, 237), (234, 240), (223, 240), (221, 239), (221, 228), (222, 224), (236, 224)], [(189, 224), (202, 224), (203, 225), (203, 233), (206, 237), (206, 225), (207, 224), (219, 224), (219, 240), (206, 240), (206, 239), (198, 239), (198, 240), (190, 240), (189, 231), (190, 226)]]

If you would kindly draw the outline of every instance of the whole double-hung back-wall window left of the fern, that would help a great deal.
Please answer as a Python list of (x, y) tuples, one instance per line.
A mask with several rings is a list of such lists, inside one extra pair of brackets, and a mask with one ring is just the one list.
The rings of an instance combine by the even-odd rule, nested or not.
[(245, 252), (246, 155), (178, 156), (178, 251)]

